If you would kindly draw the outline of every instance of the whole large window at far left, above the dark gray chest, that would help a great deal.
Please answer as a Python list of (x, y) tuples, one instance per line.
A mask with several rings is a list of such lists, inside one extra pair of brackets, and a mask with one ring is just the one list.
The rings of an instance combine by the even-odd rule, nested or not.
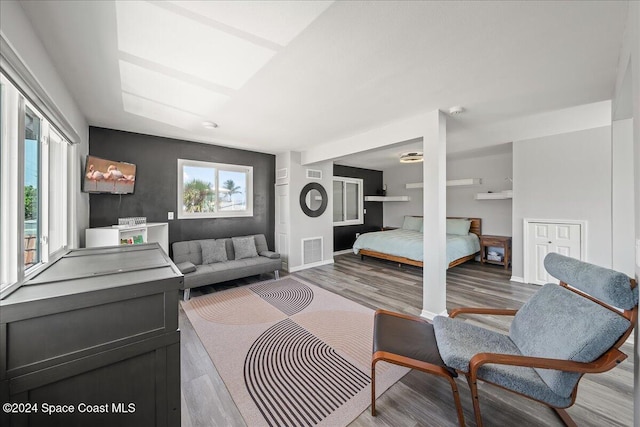
[(0, 74), (0, 290), (66, 249), (69, 142)]

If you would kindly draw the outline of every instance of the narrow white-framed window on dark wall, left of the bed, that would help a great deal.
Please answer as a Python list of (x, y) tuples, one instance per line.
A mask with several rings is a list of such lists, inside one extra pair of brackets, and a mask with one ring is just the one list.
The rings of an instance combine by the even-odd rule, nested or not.
[(364, 224), (362, 179), (333, 177), (333, 225)]

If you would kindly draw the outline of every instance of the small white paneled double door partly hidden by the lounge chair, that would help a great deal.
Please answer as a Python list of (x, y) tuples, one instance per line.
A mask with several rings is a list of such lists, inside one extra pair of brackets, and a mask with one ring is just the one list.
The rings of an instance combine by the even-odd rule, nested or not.
[(544, 257), (549, 252), (557, 252), (581, 259), (581, 224), (552, 224), (530, 222), (527, 230), (528, 248), (525, 262), (528, 265), (525, 281), (544, 285), (558, 283), (544, 268)]

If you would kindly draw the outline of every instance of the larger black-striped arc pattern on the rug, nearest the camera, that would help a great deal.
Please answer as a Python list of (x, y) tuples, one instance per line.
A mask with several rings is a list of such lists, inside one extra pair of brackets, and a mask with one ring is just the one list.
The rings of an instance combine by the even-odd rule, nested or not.
[(371, 382), (291, 319), (271, 326), (252, 344), (244, 379), (270, 426), (316, 425)]

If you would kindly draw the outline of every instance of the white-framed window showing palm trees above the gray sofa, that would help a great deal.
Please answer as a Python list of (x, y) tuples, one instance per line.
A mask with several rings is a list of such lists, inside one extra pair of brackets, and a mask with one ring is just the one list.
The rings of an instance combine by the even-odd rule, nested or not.
[(253, 216), (253, 167), (178, 159), (178, 218)]

